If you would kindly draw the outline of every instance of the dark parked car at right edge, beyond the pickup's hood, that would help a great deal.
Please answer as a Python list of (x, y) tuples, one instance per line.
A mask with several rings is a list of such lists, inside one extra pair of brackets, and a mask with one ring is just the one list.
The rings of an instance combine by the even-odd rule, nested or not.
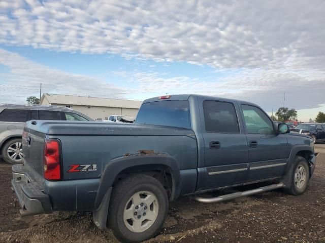
[(290, 129), (292, 132), (308, 135), (314, 142), (325, 142), (325, 125), (320, 123), (304, 123)]

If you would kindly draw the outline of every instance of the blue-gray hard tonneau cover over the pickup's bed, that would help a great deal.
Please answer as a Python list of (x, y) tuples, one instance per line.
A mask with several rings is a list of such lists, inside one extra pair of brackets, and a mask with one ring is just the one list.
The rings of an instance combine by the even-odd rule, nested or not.
[(194, 135), (192, 130), (183, 128), (105, 121), (31, 120), (24, 130), (48, 135)]

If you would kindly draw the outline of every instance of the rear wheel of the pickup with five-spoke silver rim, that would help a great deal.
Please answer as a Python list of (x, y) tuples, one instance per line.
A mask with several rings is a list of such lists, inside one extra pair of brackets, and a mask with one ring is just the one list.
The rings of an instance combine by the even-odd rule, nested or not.
[[(129, 176), (113, 187), (108, 227), (121, 242), (141, 242), (159, 232), (167, 212), (168, 196), (158, 180), (147, 175)], [(139, 216), (140, 219), (136, 218)]]

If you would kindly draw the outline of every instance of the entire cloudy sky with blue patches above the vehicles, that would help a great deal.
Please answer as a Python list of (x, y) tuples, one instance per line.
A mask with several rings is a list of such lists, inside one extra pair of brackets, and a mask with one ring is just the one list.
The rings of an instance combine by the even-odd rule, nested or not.
[[(0, 0), (0, 103), (203, 94), (325, 112), (324, 1)], [(285, 97), (285, 99), (284, 99)]]

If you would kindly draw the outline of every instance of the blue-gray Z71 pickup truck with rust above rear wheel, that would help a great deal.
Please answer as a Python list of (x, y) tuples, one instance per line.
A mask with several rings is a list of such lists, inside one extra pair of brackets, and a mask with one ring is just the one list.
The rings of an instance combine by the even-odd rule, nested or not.
[[(181, 195), (214, 203), (276, 188), (302, 194), (316, 164), (313, 140), (257, 105), (200, 95), (145, 100), (131, 125), (31, 120), (23, 154), (12, 169), (21, 215), (92, 211), (122, 242), (155, 236)], [(270, 183), (199, 195), (262, 181)]]

